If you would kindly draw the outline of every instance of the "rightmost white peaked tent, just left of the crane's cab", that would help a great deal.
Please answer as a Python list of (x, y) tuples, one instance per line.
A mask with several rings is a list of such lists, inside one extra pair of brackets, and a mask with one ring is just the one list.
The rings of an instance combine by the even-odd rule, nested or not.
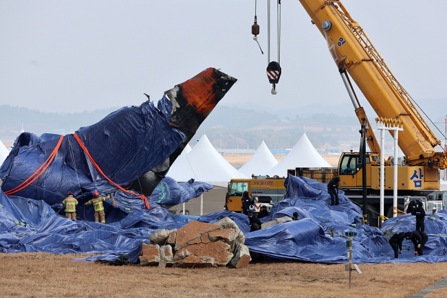
[(332, 165), (321, 157), (307, 135), (303, 133), (292, 151), (274, 168), (270, 169), (267, 174), (269, 176), (287, 176), (287, 170), (294, 170), (295, 168), (332, 168)]

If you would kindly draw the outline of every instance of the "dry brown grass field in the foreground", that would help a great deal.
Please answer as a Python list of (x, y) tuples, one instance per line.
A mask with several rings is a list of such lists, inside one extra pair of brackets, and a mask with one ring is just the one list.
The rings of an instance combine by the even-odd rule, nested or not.
[[(87, 255), (0, 253), (2, 297), (408, 297), (447, 277), (447, 263), (272, 262), (246, 268), (158, 268), (71, 261)], [(426, 297), (447, 297), (441, 288)]]

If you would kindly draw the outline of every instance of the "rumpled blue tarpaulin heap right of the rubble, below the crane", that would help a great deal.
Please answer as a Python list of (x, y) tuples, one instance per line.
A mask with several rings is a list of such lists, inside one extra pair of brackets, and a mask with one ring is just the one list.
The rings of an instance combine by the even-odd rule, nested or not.
[[(384, 231), (397, 233), (415, 230), (415, 217), (409, 214), (391, 218), (384, 222), (382, 230), (362, 225), (361, 210), (339, 192), (340, 205), (331, 206), (327, 185), (304, 177), (289, 176), (285, 181), (287, 194), (272, 207), (272, 213), (263, 221), (292, 216), (294, 211), (299, 220), (274, 225), (246, 234), (246, 245), (250, 251), (276, 257), (281, 260), (306, 262), (343, 263), (349, 262), (345, 236), (347, 231), (357, 232), (353, 237), (352, 260), (358, 264), (382, 262), (446, 262), (445, 234), (447, 220), (440, 219), (446, 211), (426, 217), (428, 242), (424, 255), (415, 257), (413, 242), (404, 240), (402, 255), (393, 258), (393, 249), (384, 236)], [(446, 216), (447, 218), (447, 216)], [(334, 237), (331, 236), (334, 233)]]

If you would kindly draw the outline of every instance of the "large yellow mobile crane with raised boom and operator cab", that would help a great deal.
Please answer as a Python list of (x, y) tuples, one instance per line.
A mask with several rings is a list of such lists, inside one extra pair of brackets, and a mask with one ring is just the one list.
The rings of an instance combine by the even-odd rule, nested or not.
[[(380, 146), (371, 130), (364, 108), (358, 101), (349, 79), (351, 77), (377, 113), (377, 123), (387, 123), (391, 127), (399, 125), (403, 128), (398, 133), (397, 130), (390, 130), (393, 137), (398, 135), (397, 145), (405, 155), (397, 167), (397, 209), (404, 209), (405, 197), (416, 199), (426, 198), (428, 194), (436, 196), (440, 186), (439, 170), (447, 168), (447, 154), (444, 148), (444, 152), (435, 151), (441, 141), (419, 113), (411, 96), (393, 76), (362, 27), (351, 18), (341, 1), (300, 0), (300, 3), (309, 14), (312, 24), (316, 25), (327, 41), (329, 53), (336, 62), (356, 115), (364, 128), (362, 137), (370, 149), (370, 152), (364, 154), (364, 158), (362, 152), (341, 154), (337, 168), (340, 189), (344, 190), (351, 200), (362, 204), (363, 185), (366, 184), (367, 205), (371, 211), (369, 213), (377, 216), (382, 175), (384, 205), (385, 209), (388, 209), (388, 217), (390, 211), (391, 216), (395, 212), (392, 196), (395, 188), (393, 165), (399, 161), (388, 159), (384, 162), (384, 171), (380, 171)], [(303, 169), (292, 170), (298, 176), (309, 176), (309, 169), (307, 174), (303, 174)], [(366, 179), (363, 172), (366, 172)], [(321, 179), (319, 181), (327, 183)]]

